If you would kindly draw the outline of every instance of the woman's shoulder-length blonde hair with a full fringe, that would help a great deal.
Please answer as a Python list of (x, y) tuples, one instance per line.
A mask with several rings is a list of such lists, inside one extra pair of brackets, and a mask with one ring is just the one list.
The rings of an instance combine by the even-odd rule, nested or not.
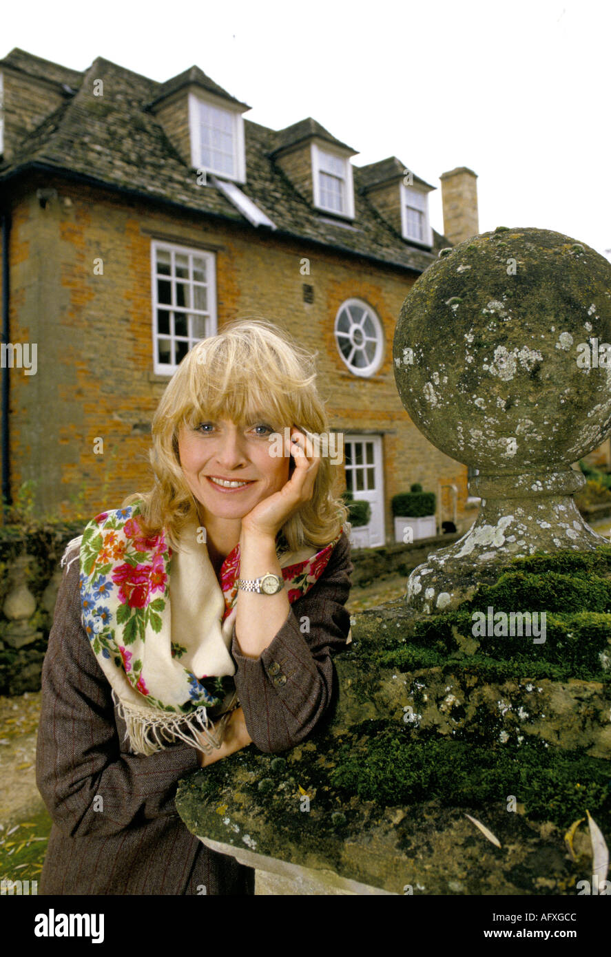
[[(316, 386), (314, 357), (287, 333), (263, 320), (235, 320), (216, 336), (194, 345), (170, 379), (151, 423), (150, 463), (153, 487), (134, 493), (122, 507), (142, 501), (141, 524), (149, 534), (165, 529), (177, 546), (180, 531), (199, 521), (198, 502), (187, 485), (178, 455), (178, 433), (206, 419), (230, 418), (236, 423), (265, 412), (278, 432), (297, 426), (314, 434), (328, 433), (328, 416)], [(348, 509), (334, 498), (332, 466), (321, 457), (310, 501), (284, 523), (290, 550), (328, 545), (347, 526)]]

